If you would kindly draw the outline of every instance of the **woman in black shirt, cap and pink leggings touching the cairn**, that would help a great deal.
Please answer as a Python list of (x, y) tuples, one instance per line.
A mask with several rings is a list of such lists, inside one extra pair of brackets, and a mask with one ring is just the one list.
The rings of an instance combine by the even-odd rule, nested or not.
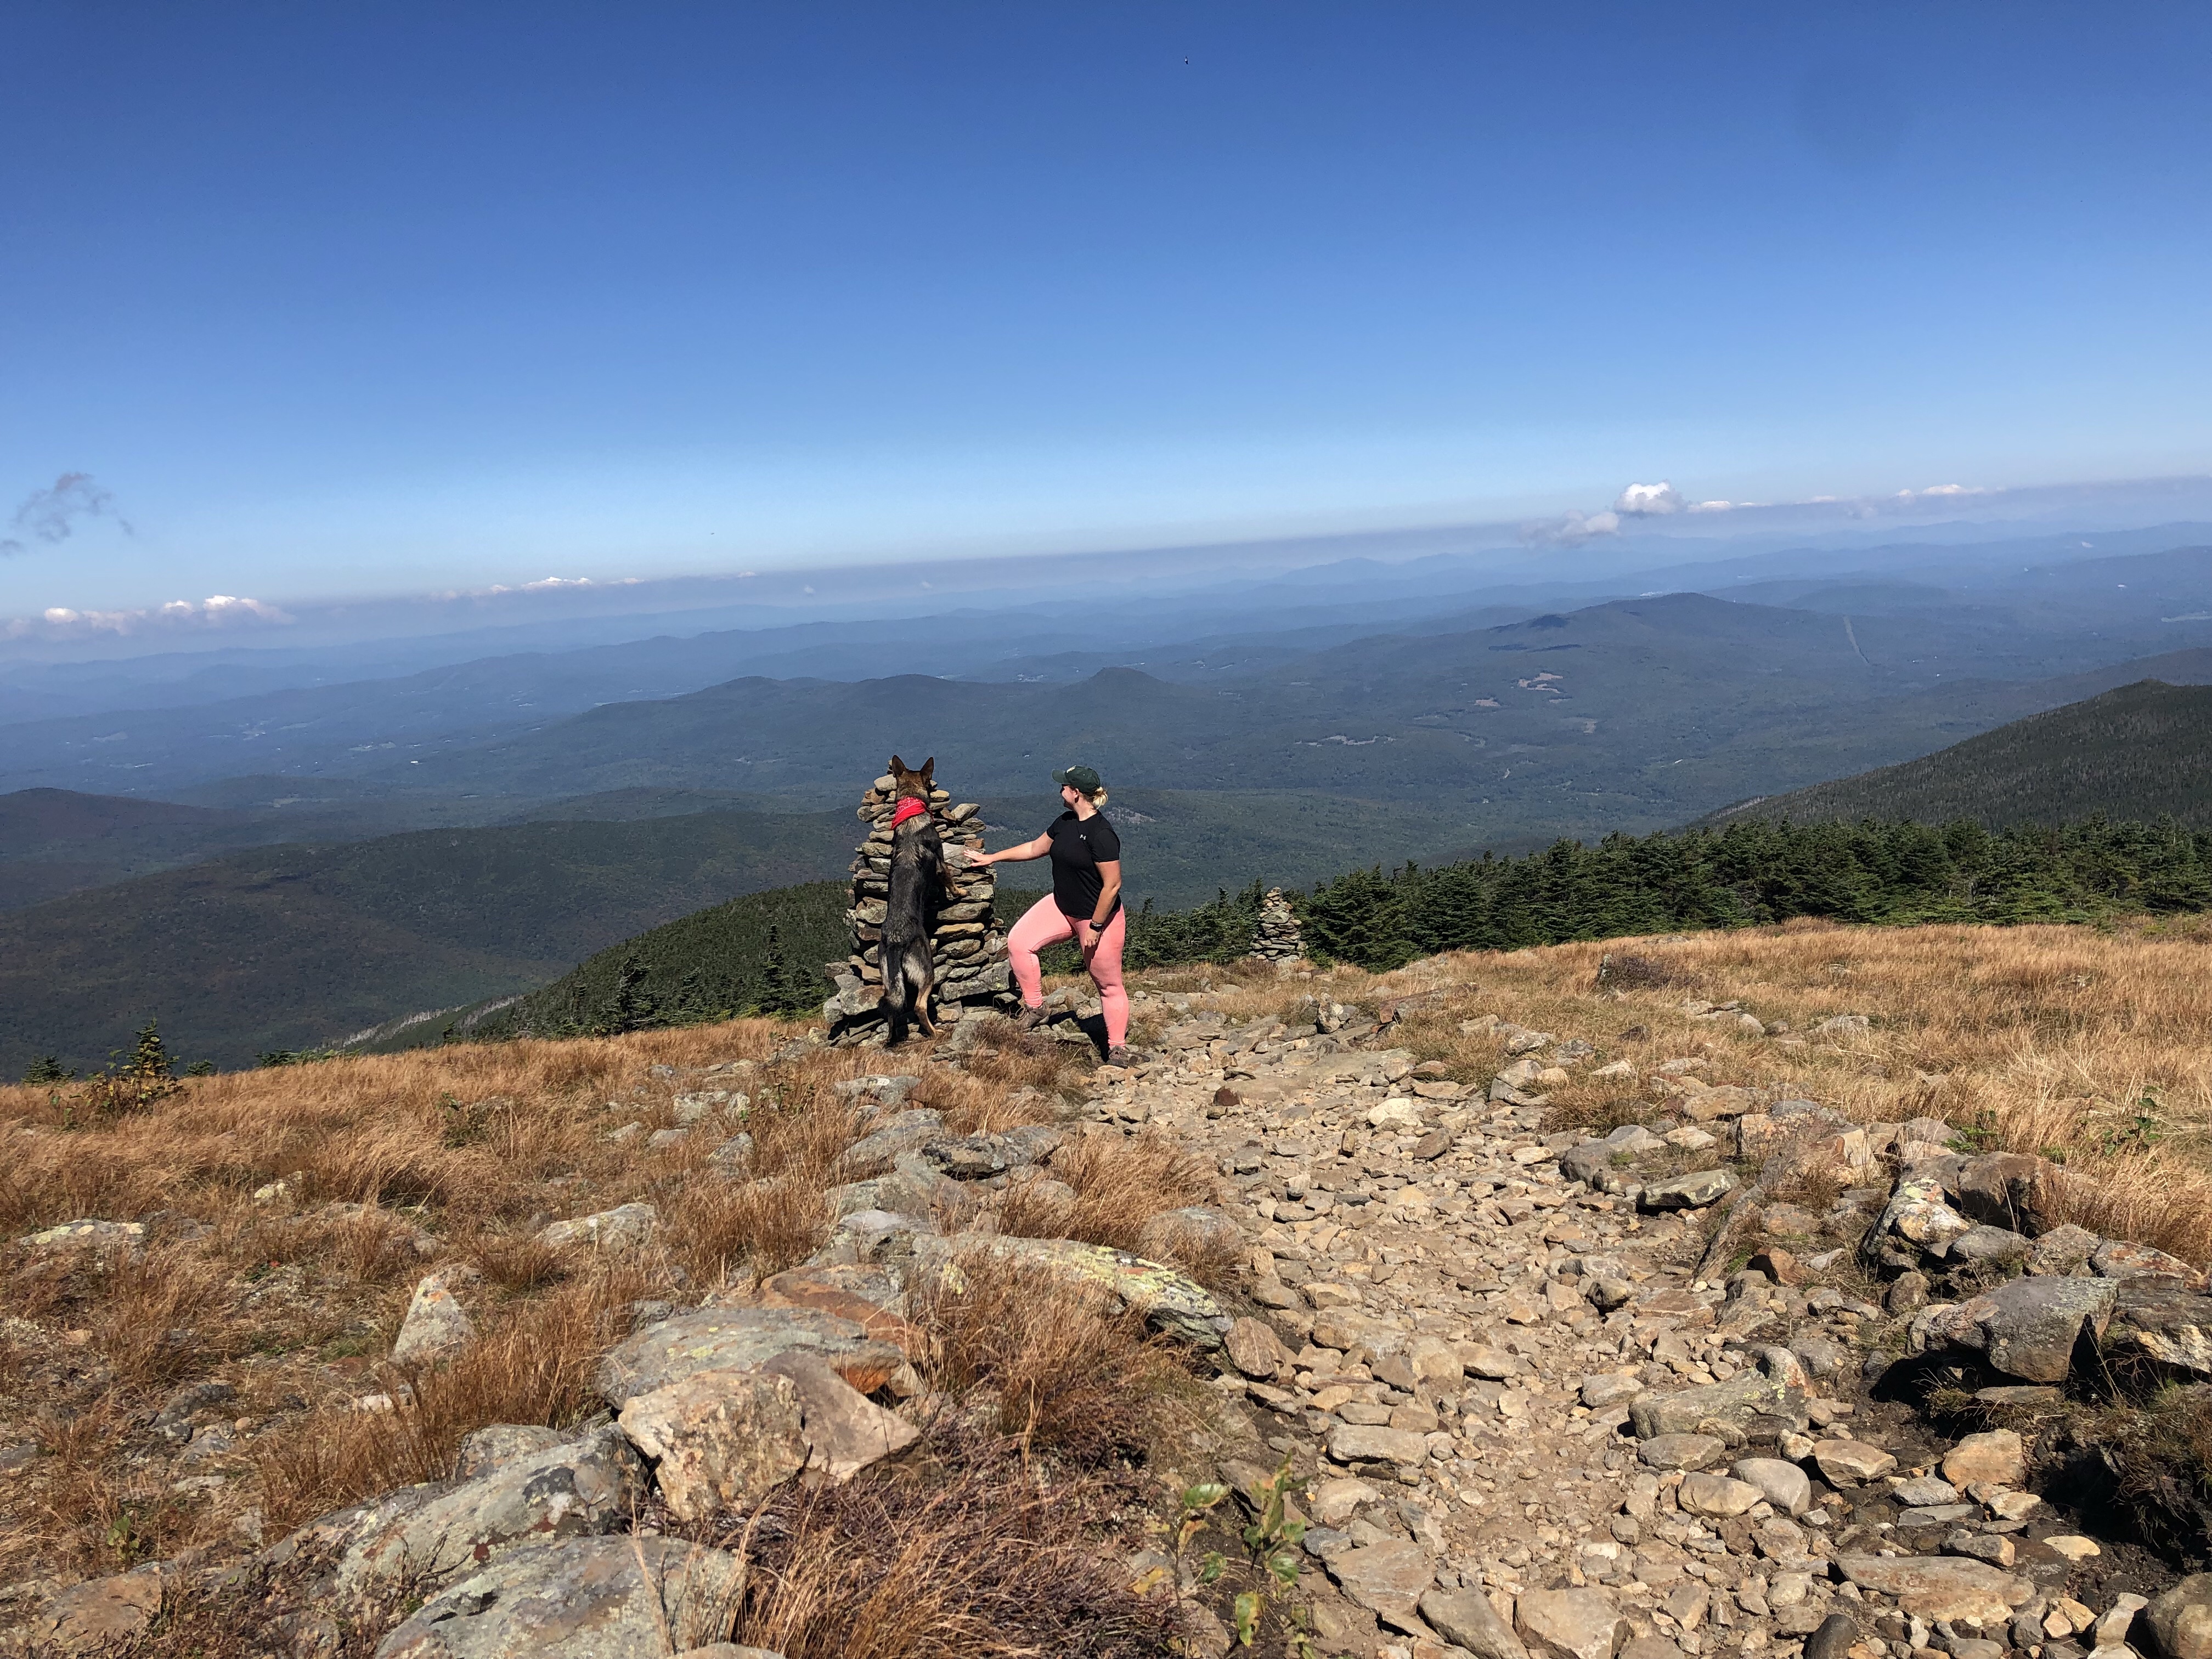
[(1099, 812), (1106, 785), (1088, 765), (1053, 772), (1066, 812), (1046, 825), (1035, 841), (1004, 852), (980, 852), (975, 865), (1026, 865), (1031, 858), (1053, 860), (1053, 891), (1029, 907), (1029, 914), (1006, 933), (1006, 956), (1013, 978), (1022, 984), (1022, 1031), (1044, 1020), (1044, 971), (1037, 951), (1073, 938), (1084, 953), (1084, 969), (1099, 989), (1106, 1009), (1106, 1064), (1130, 1064), (1128, 991), (1121, 989), (1121, 936), (1128, 920), (1121, 914), (1121, 838)]

